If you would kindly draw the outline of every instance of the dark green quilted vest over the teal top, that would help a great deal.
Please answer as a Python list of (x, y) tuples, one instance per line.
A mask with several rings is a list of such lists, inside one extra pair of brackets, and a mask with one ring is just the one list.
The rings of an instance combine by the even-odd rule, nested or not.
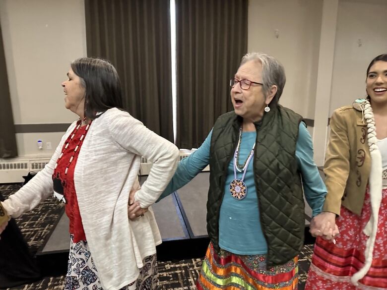
[[(301, 120), (302, 116), (278, 106), (256, 123), (253, 168), (260, 222), (268, 246), (267, 266), (290, 261), (300, 253), (304, 243), (305, 205), (295, 155)], [(218, 222), (224, 183), (241, 124), (242, 118), (229, 112), (216, 120), (212, 130), (207, 232), (216, 251), (219, 251)]]

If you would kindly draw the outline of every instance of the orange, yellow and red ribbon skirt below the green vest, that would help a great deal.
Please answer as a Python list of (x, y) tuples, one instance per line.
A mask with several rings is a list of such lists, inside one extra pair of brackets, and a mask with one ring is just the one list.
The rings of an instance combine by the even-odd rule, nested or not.
[(209, 244), (198, 290), (297, 290), (298, 257), (266, 269), (266, 255), (236, 255), (221, 249), (218, 255)]

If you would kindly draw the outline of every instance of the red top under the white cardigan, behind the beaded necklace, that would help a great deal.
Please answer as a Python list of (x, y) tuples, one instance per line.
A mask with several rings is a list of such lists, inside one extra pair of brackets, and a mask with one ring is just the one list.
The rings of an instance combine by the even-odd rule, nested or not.
[[(75, 129), (72, 131), (72, 133), (69, 135), (67, 138), (65, 144), (63, 145), (62, 152), (65, 150), (65, 153), (63, 154), (62, 158), (60, 159), (57, 170), (55, 175), (59, 173), (59, 178), (61, 181), (64, 180), (65, 178), (65, 187), (64, 187), (64, 193), (65, 193), (65, 211), (68, 219), (70, 220), (70, 229), (69, 232), (74, 235), (73, 237), (73, 242), (79, 242), (81, 240), (86, 241), (86, 235), (83, 230), (83, 225), (82, 225), (82, 218), (79, 213), (79, 207), (78, 207), (78, 200), (76, 198), (76, 192), (75, 192), (75, 186), (74, 186), (74, 169), (75, 169), (75, 164), (76, 161), (78, 160), (78, 155), (80, 148), (83, 144), (81, 142), (79, 144), (79, 147), (77, 151), (75, 152), (74, 159), (71, 162), (70, 166), (68, 167), (67, 170), (67, 176), (65, 177), (65, 168), (68, 165), (68, 162), (70, 161), (70, 158), (72, 154), (74, 153), (75, 146), (78, 144), (80, 137), (83, 135), (85, 132), (86, 126), (79, 127), (78, 131), (76, 131), (75, 136), (72, 138), (70, 143), (68, 144), (67, 149), (65, 150), (65, 144), (68, 142), (68, 139), (70, 136), (75, 132)], [(83, 137), (85, 138), (85, 137)]]

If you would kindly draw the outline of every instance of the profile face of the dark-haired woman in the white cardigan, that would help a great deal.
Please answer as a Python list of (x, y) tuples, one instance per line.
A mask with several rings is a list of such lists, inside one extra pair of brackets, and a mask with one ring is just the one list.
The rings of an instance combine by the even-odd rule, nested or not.
[(65, 107), (71, 112), (83, 116), (85, 88), (81, 85), (79, 76), (71, 68), (67, 72), (67, 77), (68, 79), (62, 83), (65, 92)]

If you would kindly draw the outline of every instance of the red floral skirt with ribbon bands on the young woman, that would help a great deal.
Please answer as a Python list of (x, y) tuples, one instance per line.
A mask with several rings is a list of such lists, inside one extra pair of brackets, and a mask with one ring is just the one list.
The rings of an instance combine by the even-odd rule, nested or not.
[(305, 290), (387, 289), (387, 189), (382, 191), (371, 268), (359, 280), (358, 287), (353, 286), (349, 280), (364, 265), (368, 236), (363, 233), (363, 229), (370, 215), (368, 190), (360, 217), (341, 207), (340, 217), (336, 220), (340, 235), (336, 237), (335, 245), (322, 238), (316, 240)]

